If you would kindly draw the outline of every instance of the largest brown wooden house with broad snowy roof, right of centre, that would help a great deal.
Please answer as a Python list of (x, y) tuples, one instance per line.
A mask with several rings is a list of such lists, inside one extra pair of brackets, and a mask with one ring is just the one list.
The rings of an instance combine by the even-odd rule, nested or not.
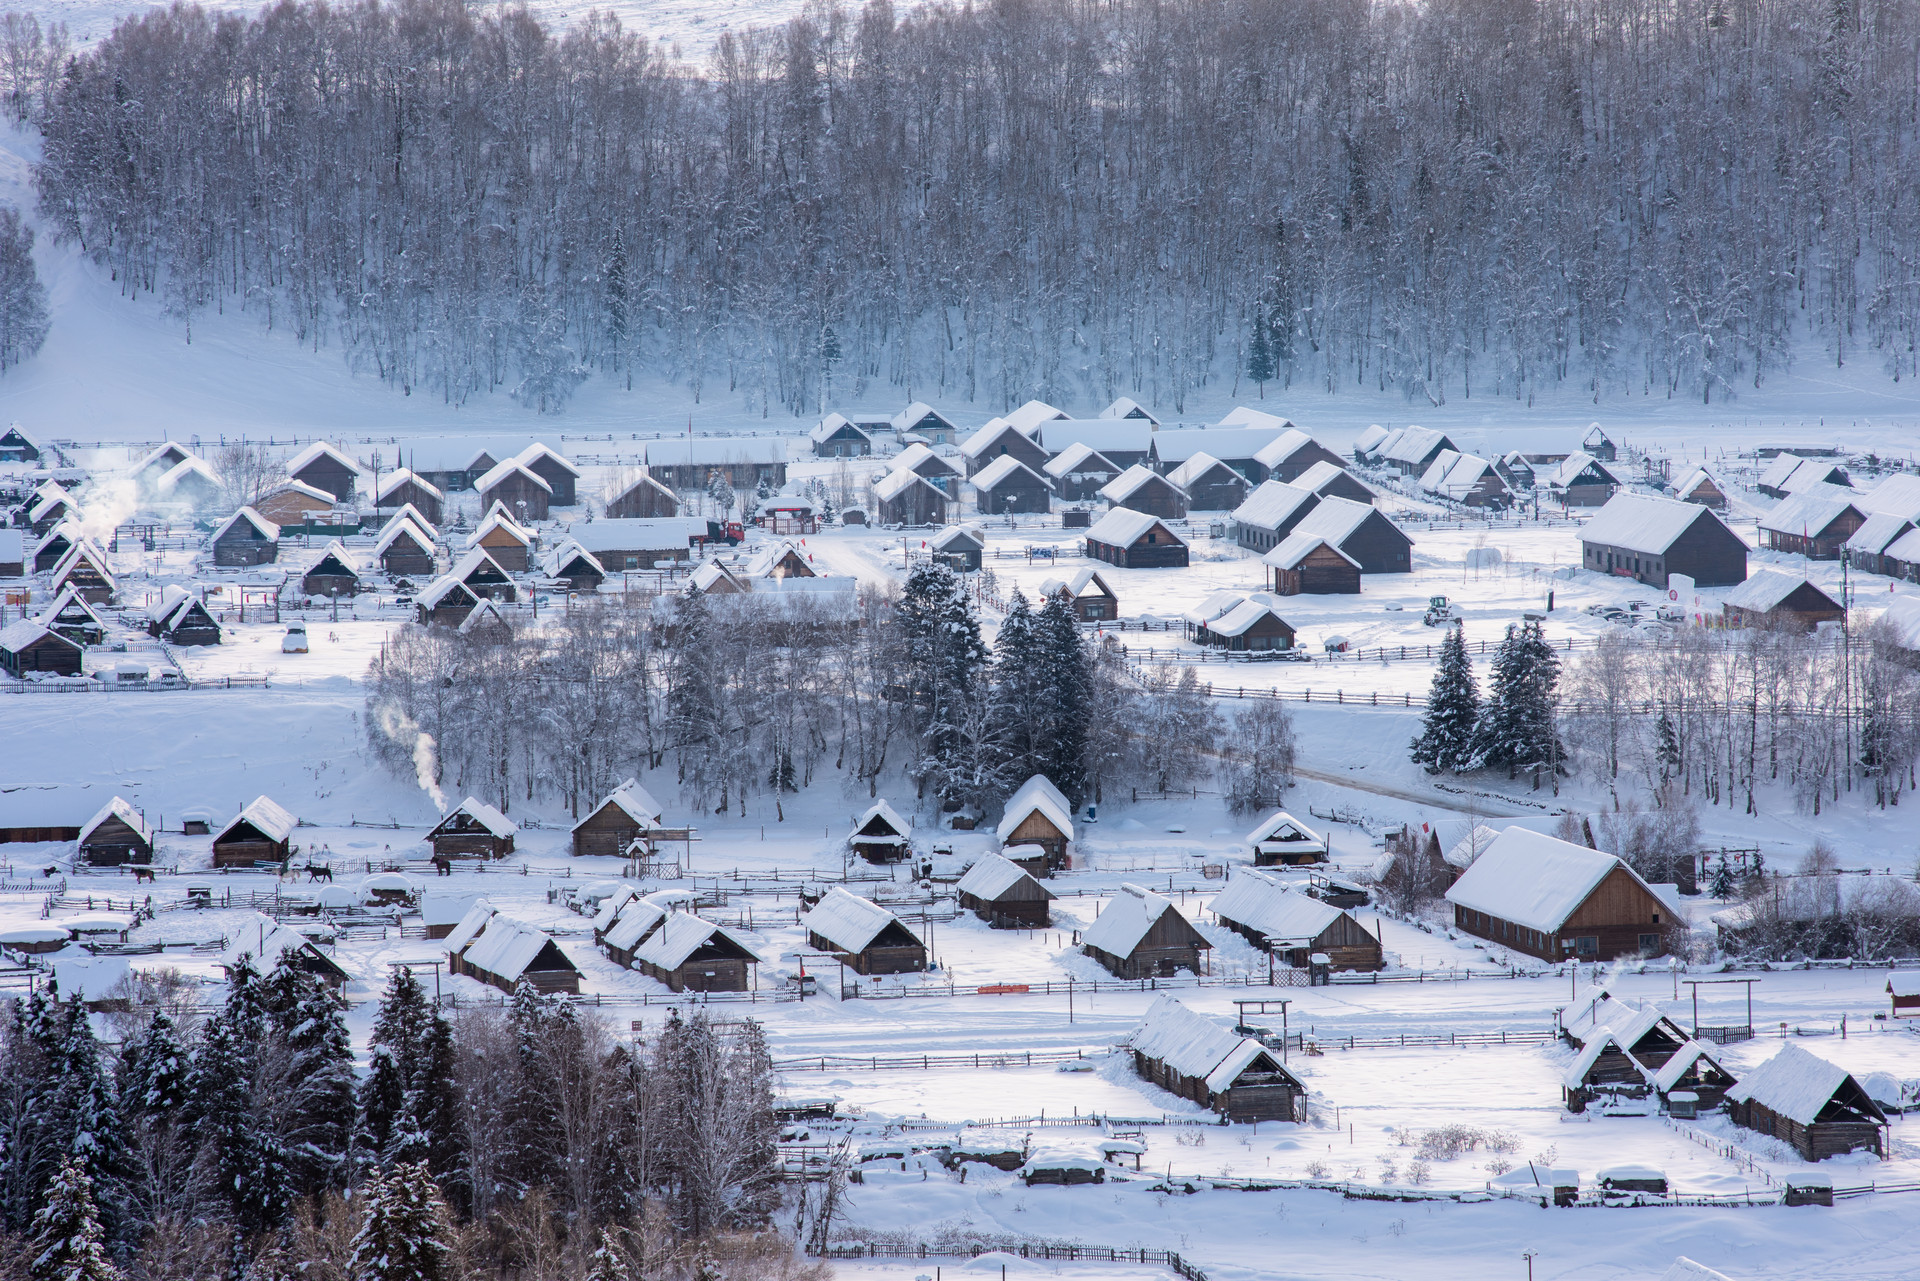
[(1613, 855), (1507, 828), (1446, 891), (1453, 926), (1542, 960), (1661, 956), (1682, 912)]

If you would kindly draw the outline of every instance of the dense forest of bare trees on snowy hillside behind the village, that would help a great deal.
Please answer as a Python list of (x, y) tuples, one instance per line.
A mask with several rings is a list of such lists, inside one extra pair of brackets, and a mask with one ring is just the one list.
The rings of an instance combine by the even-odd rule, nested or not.
[(1916, 54), (1889, 2), (870, 0), (695, 65), (401, 0), (150, 12), (4, 88), (129, 294), (409, 392), (1179, 411), (1711, 399), (1809, 338), (1910, 376)]

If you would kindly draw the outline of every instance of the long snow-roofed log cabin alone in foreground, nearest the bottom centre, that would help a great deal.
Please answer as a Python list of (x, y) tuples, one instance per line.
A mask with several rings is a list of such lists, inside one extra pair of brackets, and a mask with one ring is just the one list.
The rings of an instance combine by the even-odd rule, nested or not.
[(1229, 1122), (1302, 1122), (1308, 1087), (1252, 1037), (1160, 997), (1127, 1037), (1133, 1070)]

